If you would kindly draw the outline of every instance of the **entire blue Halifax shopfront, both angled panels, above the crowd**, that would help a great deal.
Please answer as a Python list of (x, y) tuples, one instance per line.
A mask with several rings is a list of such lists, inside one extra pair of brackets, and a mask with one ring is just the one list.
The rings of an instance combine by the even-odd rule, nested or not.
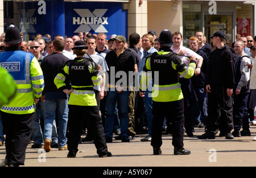
[(34, 39), (36, 34), (71, 37), (80, 31), (104, 32), (108, 39), (113, 34), (127, 38), (127, 10), (122, 10), (122, 3), (44, 2), (44, 14), (38, 2), (20, 3), (19, 28), (25, 40)]

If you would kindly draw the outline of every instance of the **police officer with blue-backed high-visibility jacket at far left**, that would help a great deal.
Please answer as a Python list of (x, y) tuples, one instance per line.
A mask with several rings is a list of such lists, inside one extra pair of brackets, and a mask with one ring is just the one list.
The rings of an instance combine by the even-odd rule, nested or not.
[(31, 136), (32, 114), (44, 88), (43, 72), (31, 53), (22, 51), (18, 27), (6, 30), (6, 51), (0, 53), (0, 65), (13, 76), (17, 94), (1, 107), (6, 133), (6, 159), (2, 165), (24, 165), (26, 148)]

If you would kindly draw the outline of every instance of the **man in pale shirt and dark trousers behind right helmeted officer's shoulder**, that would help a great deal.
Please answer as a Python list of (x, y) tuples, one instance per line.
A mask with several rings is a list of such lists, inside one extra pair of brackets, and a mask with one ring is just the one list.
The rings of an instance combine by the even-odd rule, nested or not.
[[(196, 70), (195, 75), (199, 75), (201, 72), (201, 66), (203, 64), (203, 57), (198, 55), (196, 52), (192, 51), (191, 49), (188, 49), (181, 45), (182, 42), (182, 34), (180, 32), (174, 32), (172, 34), (172, 40), (174, 42), (174, 45), (172, 45), (171, 50), (175, 53), (185, 55), (185, 56), (191, 56), (194, 55), (196, 57)], [(180, 59), (185, 64), (189, 64), (189, 58), (185, 56), (179, 56)], [(180, 84), (181, 84), (181, 90), (184, 96), (184, 117), (185, 117), (185, 123), (184, 127), (186, 130), (186, 133), (188, 136), (193, 136), (193, 129), (195, 125), (195, 118), (193, 117), (193, 109), (192, 107), (195, 106), (195, 102), (197, 101), (195, 90), (193, 89), (193, 86), (191, 84), (190, 78), (184, 78), (180, 76)]]

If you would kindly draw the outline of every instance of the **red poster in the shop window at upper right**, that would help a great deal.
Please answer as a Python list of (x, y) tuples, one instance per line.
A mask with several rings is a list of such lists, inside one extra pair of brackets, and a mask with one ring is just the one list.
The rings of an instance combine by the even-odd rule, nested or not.
[(251, 19), (237, 18), (237, 34), (241, 36), (250, 36), (251, 35)]

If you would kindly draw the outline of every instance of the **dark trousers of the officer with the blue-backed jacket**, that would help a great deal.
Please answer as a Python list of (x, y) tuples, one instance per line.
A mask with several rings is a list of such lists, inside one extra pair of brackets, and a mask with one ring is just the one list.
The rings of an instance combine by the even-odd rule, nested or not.
[(32, 131), (32, 114), (9, 114), (1, 111), (6, 133), (6, 159), (15, 166), (24, 165)]

